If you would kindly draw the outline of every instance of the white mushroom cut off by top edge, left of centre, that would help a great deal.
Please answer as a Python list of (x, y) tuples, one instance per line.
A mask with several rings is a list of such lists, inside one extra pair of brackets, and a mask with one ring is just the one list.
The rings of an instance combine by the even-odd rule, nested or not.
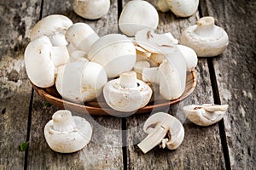
[(73, 10), (84, 19), (96, 20), (108, 13), (110, 0), (74, 0)]

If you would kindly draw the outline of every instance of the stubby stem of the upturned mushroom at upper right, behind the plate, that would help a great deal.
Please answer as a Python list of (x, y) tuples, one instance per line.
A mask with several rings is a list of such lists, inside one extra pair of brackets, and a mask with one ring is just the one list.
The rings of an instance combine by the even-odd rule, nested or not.
[(214, 35), (214, 18), (211, 16), (202, 17), (196, 22), (197, 27), (195, 28), (195, 33), (202, 37), (208, 37), (209, 35)]

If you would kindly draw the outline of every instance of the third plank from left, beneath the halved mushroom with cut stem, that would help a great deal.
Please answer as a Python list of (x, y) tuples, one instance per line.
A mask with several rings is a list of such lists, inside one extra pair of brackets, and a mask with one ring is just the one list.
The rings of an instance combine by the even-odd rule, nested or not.
[[(177, 18), (171, 12), (159, 14), (158, 32), (170, 31), (177, 39), (180, 39), (184, 28), (194, 25), (199, 18), (198, 12), (186, 19)], [(184, 105), (213, 103), (207, 59), (199, 59), (196, 77), (197, 86), (194, 93), (178, 105), (166, 108), (166, 111), (183, 122), (185, 137), (177, 150), (162, 150), (155, 147), (144, 155), (137, 147), (137, 143), (146, 137), (142, 127), (149, 114), (127, 118), (129, 169), (224, 169), (218, 124), (198, 127), (189, 122), (182, 112)]]

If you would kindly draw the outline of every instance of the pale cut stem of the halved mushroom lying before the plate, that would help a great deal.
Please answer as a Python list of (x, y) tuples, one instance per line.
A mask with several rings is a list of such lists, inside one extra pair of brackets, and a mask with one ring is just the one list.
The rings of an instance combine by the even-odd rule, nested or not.
[(146, 154), (149, 150), (152, 150), (154, 146), (161, 143), (162, 139), (165, 138), (167, 131), (168, 130), (165, 127), (155, 127), (142, 142), (137, 144), (137, 146), (143, 150), (144, 154)]

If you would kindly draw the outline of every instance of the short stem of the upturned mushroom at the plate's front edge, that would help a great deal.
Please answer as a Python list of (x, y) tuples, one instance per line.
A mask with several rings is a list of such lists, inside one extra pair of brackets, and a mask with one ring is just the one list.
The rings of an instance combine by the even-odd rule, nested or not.
[(120, 86), (122, 88), (137, 88), (137, 74), (134, 71), (126, 71), (120, 74)]

